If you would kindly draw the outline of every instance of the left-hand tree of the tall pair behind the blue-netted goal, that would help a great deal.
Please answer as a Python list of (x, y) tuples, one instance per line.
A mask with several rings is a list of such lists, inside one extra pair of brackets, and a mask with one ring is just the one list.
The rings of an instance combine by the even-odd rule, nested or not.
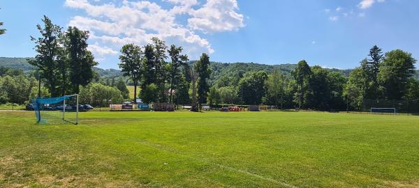
[(44, 23), (44, 27), (40, 24), (36, 25), (38, 31), (41, 33), (41, 37), (34, 38), (31, 36), (31, 40), (35, 41), (35, 49), (38, 54), (36, 54), (34, 60), (29, 61), (29, 64), (38, 68), (41, 77), (46, 80), (45, 86), (47, 86), (52, 97), (57, 97), (59, 95), (59, 91), (57, 91), (59, 77), (56, 75), (59, 75), (57, 60), (61, 53), (61, 46), (59, 44), (61, 27), (52, 24), (51, 19), (45, 15), (42, 22)]

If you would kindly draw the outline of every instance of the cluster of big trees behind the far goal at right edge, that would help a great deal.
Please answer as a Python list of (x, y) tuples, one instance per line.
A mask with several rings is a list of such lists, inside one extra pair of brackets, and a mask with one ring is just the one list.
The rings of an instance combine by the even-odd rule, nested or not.
[(365, 100), (418, 100), (418, 81), (413, 78), (416, 59), (400, 49), (383, 54), (374, 46), (349, 76), (345, 95), (353, 107)]

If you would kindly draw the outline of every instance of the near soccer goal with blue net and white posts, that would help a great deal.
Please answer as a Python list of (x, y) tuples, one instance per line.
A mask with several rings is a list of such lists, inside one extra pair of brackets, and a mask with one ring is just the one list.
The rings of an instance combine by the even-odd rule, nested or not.
[(31, 101), (36, 115), (36, 123), (78, 124), (78, 95), (36, 98)]

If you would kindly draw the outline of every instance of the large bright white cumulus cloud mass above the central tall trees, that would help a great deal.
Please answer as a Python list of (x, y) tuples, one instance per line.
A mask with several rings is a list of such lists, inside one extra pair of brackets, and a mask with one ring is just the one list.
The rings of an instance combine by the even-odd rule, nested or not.
[[(196, 31), (215, 33), (235, 31), (244, 26), (237, 13), (236, 0), (163, 0), (170, 8), (151, 1), (66, 0), (64, 6), (84, 10), (71, 18), (70, 26), (89, 30), (94, 45), (89, 49), (97, 56), (115, 55), (122, 45), (146, 45), (152, 37), (184, 47), (185, 53), (197, 58), (202, 52), (213, 53), (210, 41)], [(179, 15), (186, 15), (182, 23)]]

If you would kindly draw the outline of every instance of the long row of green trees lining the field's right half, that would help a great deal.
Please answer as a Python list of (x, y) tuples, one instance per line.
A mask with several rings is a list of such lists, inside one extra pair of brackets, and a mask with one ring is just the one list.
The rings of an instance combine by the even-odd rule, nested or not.
[(413, 78), (416, 60), (402, 50), (383, 54), (374, 46), (369, 58), (349, 78), (320, 66), (297, 63), (291, 74), (274, 70), (219, 79), (210, 88), (212, 104), (272, 104), (280, 108), (358, 109), (365, 100), (419, 99), (419, 82)]

